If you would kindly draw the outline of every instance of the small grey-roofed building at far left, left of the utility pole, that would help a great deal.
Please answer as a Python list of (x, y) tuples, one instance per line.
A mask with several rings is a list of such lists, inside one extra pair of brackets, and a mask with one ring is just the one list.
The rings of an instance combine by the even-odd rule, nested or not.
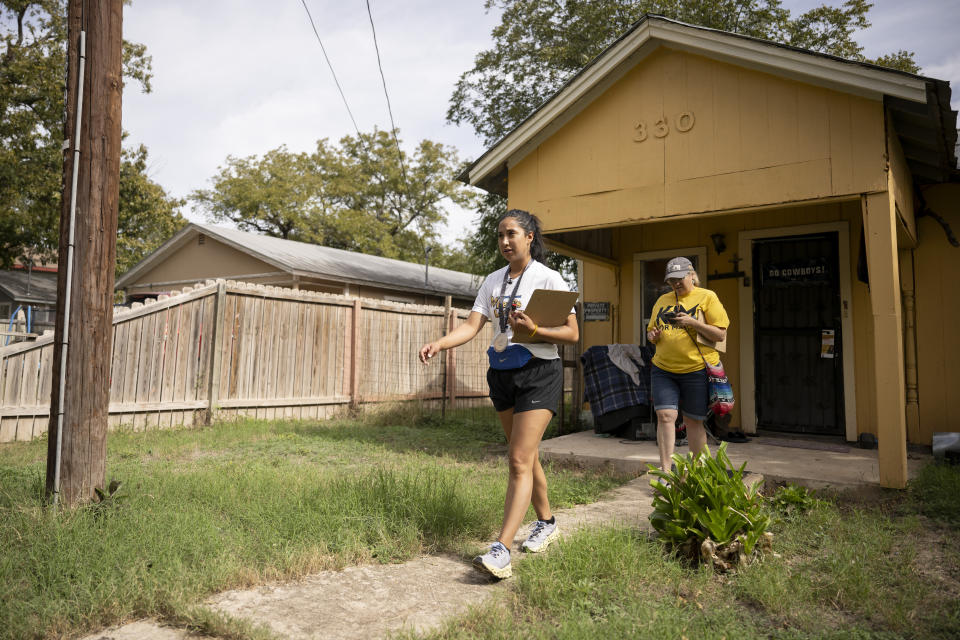
[[(56, 307), (56, 267), (27, 269), (17, 265), (9, 271), (0, 271), (0, 325), (2, 325), (0, 331), (10, 329), (11, 317), (17, 309), (23, 312), (24, 320), (29, 317), (29, 328), (32, 333), (52, 330)], [(14, 322), (14, 325), (16, 324)], [(14, 330), (18, 330), (16, 326)], [(9, 338), (9, 336), (2, 337)], [(0, 345), (5, 342), (7, 342), (6, 339), (0, 340)]]

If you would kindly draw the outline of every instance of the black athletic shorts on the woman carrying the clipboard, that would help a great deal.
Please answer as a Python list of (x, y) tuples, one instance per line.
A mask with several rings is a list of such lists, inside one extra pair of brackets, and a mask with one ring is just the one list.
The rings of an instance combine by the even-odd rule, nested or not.
[(556, 415), (563, 390), (563, 367), (560, 358), (531, 358), (519, 369), (487, 369), (487, 384), (497, 411), (549, 409)]

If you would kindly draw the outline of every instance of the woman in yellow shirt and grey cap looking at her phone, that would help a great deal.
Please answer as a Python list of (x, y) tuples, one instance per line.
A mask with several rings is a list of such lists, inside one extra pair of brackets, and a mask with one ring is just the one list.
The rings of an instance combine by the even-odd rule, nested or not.
[(697, 272), (688, 259), (670, 260), (664, 281), (672, 291), (660, 296), (654, 305), (647, 340), (657, 345), (650, 393), (657, 412), (660, 468), (669, 471), (678, 411), (683, 413), (687, 426), (690, 451), (699, 454), (707, 445), (703, 429), (707, 417), (707, 371), (703, 360), (719, 364), (720, 354), (704, 344), (698, 350), (695, 341), (698, 333), (710, 342), (725, 340), (730, 319), (717, 294), (700, 288)]

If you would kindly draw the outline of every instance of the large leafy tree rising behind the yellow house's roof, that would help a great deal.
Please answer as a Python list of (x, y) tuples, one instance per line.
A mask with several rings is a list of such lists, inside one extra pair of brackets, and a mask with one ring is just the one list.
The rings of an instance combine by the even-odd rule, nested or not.
[[(503, 12), (481, 51), (460, 76), (447, 120), (469, 124), (487, 146), (509, 133), (566, 80), (599, 55), (644, 13), (655, 13), (822, 53), (916, 73), (909, 51), (868, 60), (854, 31), (870, 26), (867, 0), (824, 4), (794, 18), (781, 0), (485, 0)], [(469, 244), (477, 260), (496, 255), (492, 222), (504, 211), (499, 196), (485, 198)]]

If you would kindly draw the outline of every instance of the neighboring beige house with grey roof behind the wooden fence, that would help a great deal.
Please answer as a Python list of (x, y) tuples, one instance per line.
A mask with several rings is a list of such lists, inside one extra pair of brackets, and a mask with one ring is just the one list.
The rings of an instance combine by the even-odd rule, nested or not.
[(473, 304), (480, 278), (316, 244), (192, 223), (117, 279), (142, 300), (208, 278), (354, 297), (443, 305)]

